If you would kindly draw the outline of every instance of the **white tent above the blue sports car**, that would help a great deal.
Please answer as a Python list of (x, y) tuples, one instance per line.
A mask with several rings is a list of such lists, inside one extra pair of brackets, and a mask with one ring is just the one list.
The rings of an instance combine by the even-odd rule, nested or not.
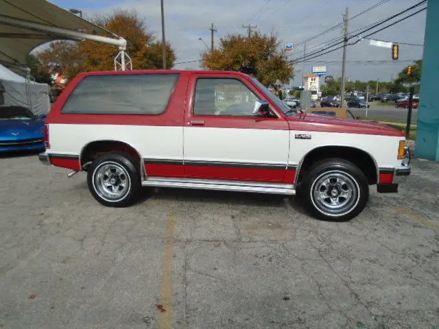
[(23, 106), (36, 115), (47, 114), (49, 90), (48, 84), (21, 77), (0, 64), (0, 106)]

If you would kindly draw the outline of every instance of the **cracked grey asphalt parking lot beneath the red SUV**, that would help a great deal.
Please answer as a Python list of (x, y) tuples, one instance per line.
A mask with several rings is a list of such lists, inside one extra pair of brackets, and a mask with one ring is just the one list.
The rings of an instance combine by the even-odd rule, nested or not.
[(0, 157), (0, 328), (439, 328), (439, 164), (318, 221), (278, 195), (145, 190)]

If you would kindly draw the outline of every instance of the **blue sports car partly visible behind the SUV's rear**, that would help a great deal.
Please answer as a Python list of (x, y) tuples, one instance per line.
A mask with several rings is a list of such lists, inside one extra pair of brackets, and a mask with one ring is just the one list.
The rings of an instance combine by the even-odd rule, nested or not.
[(44, 119), (21, 106), (0, 106), (0, 152), (44, 149)]

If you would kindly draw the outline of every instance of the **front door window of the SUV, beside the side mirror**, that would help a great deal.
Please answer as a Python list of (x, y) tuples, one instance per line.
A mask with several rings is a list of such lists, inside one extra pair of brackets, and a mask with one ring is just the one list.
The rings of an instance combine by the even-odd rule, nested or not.
[(252, 117), (259, 97), (244, 83), (228, 78), (199, 78), (195, 86), (193, 114)]

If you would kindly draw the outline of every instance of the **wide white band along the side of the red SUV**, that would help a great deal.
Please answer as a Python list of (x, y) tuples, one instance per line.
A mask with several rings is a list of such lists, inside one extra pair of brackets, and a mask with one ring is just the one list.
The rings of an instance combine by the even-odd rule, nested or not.
[[(296, 134), (311, 139), (296, 139)], [(403, 137), (333, 132), (143, 125), (50, 124), (49, 153), (79, 155), (93, 141), (122, 141), (143, 158), (299, 164), (312, 149), (347, 146), (366, 151), (378, 167), (396, 167)], [(184, 143), (184, 144), (183, 144)], [(291, 149), (289, 149), (291, 145)]]

